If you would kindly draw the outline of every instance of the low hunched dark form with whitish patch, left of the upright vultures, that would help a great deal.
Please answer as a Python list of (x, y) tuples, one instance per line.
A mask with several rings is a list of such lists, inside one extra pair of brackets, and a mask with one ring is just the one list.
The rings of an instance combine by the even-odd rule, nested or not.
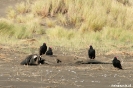
[(28, 55), (25, 60), (23, 60), (21, 65), (38, 65), (39, 56), (37, 54)]

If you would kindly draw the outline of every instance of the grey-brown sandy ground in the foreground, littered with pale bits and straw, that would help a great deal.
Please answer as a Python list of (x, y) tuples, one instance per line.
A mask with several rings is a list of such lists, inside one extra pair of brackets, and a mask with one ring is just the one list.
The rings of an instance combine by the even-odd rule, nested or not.
[[(133, 87), (131, 57), (122, 59), (124, 70), (115, 69), (112, 64), (23, 66), (20, 62), (28, 54), (16, 50), (3, 45), (0, 47), (0, 88), (107, 88), (113, 85)], [(112, 57), (97, 56), (96, 59), (111, 62)]]

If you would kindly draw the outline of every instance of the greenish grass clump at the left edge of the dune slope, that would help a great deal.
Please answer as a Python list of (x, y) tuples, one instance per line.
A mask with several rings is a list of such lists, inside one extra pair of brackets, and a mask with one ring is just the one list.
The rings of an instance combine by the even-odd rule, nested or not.
[(32, 20), (27, 24), (14, 24), (13, 22), (8, 22), (6, 20), (0, 21), (0, 34), (9, 37), (21, 38), (31, 38), (33, 34), (43, 34), (42, 30), (37, 20)]

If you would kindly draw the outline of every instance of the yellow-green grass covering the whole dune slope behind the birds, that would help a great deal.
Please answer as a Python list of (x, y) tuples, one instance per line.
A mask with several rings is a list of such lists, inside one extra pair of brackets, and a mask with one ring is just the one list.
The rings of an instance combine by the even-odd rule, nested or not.
[(47, 42), (69, 50), (90, 44), (103, 53), (133, 50), (132, 0), (26, 0), (6, 12), (1, 43), (35, 39), (36, 47)]

